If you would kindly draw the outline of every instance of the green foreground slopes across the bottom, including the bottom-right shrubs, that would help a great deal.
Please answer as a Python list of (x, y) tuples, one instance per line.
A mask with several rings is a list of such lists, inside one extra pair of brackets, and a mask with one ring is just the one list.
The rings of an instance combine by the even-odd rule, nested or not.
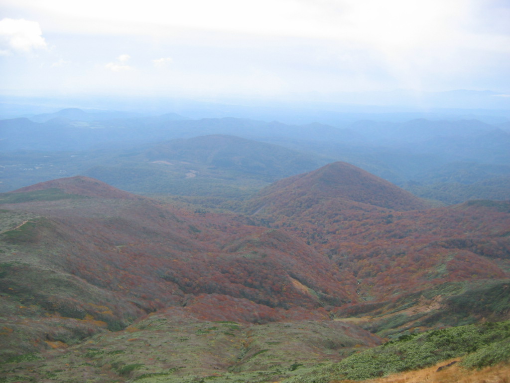
[[(0, 381), (328, 383), (435, 366), (413, 374), (423, 377), (452, 358), (461, 361), (452, 369), (466, 376), (510, 359), (510, 322), (433, 330), (370, 349), (375, 339), (362, 341), (353, 331), (345, 323), (324, 321), (260, 326), (200, 321), (186, 309), (173, 308), (79, 345), (54, 342), (53, 350), (12, 358), (0, 365), (5, 376)], [(500, 366), (482, 376), (502, 370)]]

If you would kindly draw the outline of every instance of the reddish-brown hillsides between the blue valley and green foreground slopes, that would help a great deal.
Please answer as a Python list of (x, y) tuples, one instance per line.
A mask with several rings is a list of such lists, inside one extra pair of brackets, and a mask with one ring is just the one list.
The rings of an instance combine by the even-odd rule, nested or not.
[(11, 346), (0, 361), (173, 308), (203, 321), (336, 319), (385, 337), (507, 319), (510, 202), (388, 210), (352, 198), (400, 189), (342, 163), (272, 187), (260, 198), (274, 192), (279, 210), (256, 218), (178, 209), (85, 177), (17, 190), (101, 198), (1, 205), (0, 328)]

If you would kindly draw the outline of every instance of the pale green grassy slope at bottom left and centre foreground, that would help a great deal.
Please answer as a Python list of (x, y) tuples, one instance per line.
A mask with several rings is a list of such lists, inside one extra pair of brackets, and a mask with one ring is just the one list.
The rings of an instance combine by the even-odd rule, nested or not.
[[(324, 341), (327, 339), (327, 342)], [(125, 330), (16, 357), (0, 366), (11, 381), (268, 381), (292, 376), (377, 338), (335, 322), (247, 325), (197, 320), (185, 308), (150, 315)], [(0, 380), (2, 381), (2, 380)]]

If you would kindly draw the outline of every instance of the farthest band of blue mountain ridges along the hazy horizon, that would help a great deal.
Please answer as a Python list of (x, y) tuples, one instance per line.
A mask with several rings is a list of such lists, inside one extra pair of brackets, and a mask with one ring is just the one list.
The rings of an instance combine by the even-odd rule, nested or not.
[[(34, 124), (34, 122), (36, 124)], [(42, 125), (40, 125), (42, 124)], [(475, 119), (458, 121), (430, 121), (424, 118), (407, 122), (358, 121), (347, 128), (335, 128), (324, 124), (287, 125), (277, 122), (254, 121), (246, 118), (204, 118), (190, 120), (175, 113), (159, 117), (143, 117), (126, 112), (85, 112), (81, 109), (64, 109), (52, 114), (1, 121), (2, 144), (5, 150), (32, 147), (48, 150), (93, 149), (108, 142), (140, 143), (156, 139), (190, 138), (206, 134), (228, 134), (245, 138), (292, 138), (294, 140), (335, 141), (370, 143), (375, 146), (397, 146), (406, 143), (426, 142), (437, 137), (468, 138), (498, 131), (498, 127)], [(103, 131), (105, 130), (105, 131)], [(142, 134), (143, 131), (143, 134)], [(25, 136), (21, 147), (15, 138), (23, 133), (39, 133)], [(51, 133), (61, 135), (55, 139)], [(19, 133), (19, 134), (18, 134)], [(44, 134), (50, 134), (47, 138)], [(503, 134), (500, 132), (499, 134)], [(66, 141), (67, 139), (67, 141)], [(42, 140), (42, 142), (41, 142)], [(74, 145), (71, 145), (73, 140)], [(140, 141), (142, 140), (142, 141)], [(39, 147), (37, 146), (39, 145)], [(67, 147), (63, 147), (67, 145)]]

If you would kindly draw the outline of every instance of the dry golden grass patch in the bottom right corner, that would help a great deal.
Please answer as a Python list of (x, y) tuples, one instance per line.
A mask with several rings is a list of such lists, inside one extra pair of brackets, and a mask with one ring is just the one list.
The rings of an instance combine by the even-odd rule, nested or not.
[[(458, 359), (457, 359), (458, 360)], [(418, 371), (393, 374), (378, 379), (363, 380), (363, 383), (510, 383), (510, 365), (499, 364), (481, 370), (466, 370), (455, 364), (436, 372), (441, 366), (450, 362), (444, 361), (436, 366)], [(335, 383), (359, 383), (352, 380), (338, 380)]]

